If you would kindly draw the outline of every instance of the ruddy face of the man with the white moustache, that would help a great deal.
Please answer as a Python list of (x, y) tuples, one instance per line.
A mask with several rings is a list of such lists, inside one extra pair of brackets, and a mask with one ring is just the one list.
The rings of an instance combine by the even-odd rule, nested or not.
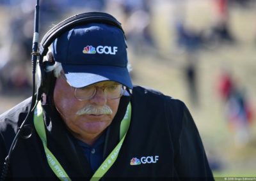
[[(113, 84), (113, 82), (106, 81), (95, 83), (94, 85), (96, 87), (105, 87), (111, 84)], [(120, 102), (120, 98), (106, 99), (102, 89), (97, 89), (93, 98), (79, 101), (74, 95), (74, 88), (70, 87), (66, 80), (61, 76), (56, 79), (53, 98), (58, 112), (60, 112), (62, 119), (72, 134), (76, 138), (88, 144), (92, 144), (97, 138), (99, 138), (100, 133), (102, 133), (104, 129), (111, 124)], [(82, 113), (81, 115), (81, 110), (86, 106), (93, 106), (97, 108), (109, 106), (112, 113)]]

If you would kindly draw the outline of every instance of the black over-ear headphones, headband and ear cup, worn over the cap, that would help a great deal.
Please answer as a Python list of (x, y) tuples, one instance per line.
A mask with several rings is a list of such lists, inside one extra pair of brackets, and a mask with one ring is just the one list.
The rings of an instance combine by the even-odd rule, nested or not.
[[(74, 15), (52, 27), (52, 29), (50, 29), (42, 38), (42, 41), (39, 45), (39, 66), (41, 72), (41, 81), (37, 91), (38, 99), (41, 98), (43, 92), (51, 96), (53, 86), (56, 80), (52, 71), (46, 71), (47, 66), (51, 66), (54, 64), (54, 59), (51, 52), (47, 54), (49, 46), (56, 38), (61, 36), (61, 34), (65, 33), (66, 31), (72, 29), (77, 25), (84, 25), (89, 23), (102, 23), (113, 25), (121, 29), (124, 33), (124, 30), (122, 29), (120, 22), (118, 22), (118, 20), (116, 20), (115, 17), (109, 15), (108, 13), (102, 12), (89, 12)], [(47, 57), (45, 57), (45, 55), (47, 55)], [(44, 57), (46, 61), (43, 61)]]

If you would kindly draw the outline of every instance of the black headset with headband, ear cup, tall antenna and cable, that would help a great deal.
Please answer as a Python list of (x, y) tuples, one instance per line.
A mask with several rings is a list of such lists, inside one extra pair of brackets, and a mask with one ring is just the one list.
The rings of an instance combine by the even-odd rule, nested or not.
[[(49, 97), (52, 96), (56, 78), (54, 76), (53, 71), (47, 71), (47, 67), (55, 63), (52, 53), (49, 52), (48, 50), (52, 42), (56, 38), (61, 36), (61, 34), (72, 29), (73, 27), (76, 27), (77, 25), (84, 25), (84, 24), (90, 24), (90, 23), (109, 24), (109, 25), (118, 27), (124, 34), (124, 38), (125, 38), (124, 30), (122, 29), (120, 22), (118, 22), (118, 20), (116, 20), (115, 17), (113, 17), (112, 15), (109, 15), (108, 13), (103, 13), (103, 12), (88, 12), (88, 13), (81, 13), (81, 14), (77, 14), (72, 17), (69, 17), (61, 21), (59, 24), (55, 25), (54, 27), (52, 27), (52, 29), (50, 29), (47, 33), (45, 33), (38, 48), (38, 19), (39, 19), (38, 4), (39, 4), (39, 0), (37, 0), (36, 6), (35, 6), (34, 38), (33, 38), (33, 47), (32, 47), (32, 53), (31, 53), (32, 73), (33, 73), (33, 93), (32, 93), (31, 108), (29, 109), (28, 115), (22, 122), (21, 126), (19, 127), (19, 131), (17, 132), (15, 138), (13, 139), (13, 143), (8, 152), (8, 156), (6, 157), (6, 160), (4, 162), (4, 168), (0, 178), (1, 181), (5, 180), (7, 177), (10, 158), (11, 158), (13, 149), (15, 148), (15, 145), (16, 145), (15, 143), (17, 142), (17, 140), (19, 140), (19, 138), (29, 138), (32, 134), (32, 131), (29, 134), (26, 133), (27, 135), (24, 135), (24, 132), (28, 132), (28, 130), (26, 130), (28, 129), (28, 127), (26, 127), (27, 126), (26, 122), (28, 122), (29, 116), (31, 115), (31, 113), (33, 113), (33, 110), (37, 102), (42, 98), (43, 93), (48, 94)], [(38, 63), (40, 68), (40, 70), (38, 70), (40, 71), (40, 82), (38, 82), (38, 87), (35, 92), (36, 62)]]

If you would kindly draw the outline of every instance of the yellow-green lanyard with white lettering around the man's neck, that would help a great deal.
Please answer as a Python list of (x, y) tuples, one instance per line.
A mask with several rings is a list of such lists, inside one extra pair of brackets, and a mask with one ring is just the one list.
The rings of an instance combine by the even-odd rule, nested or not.
[[(121, 122), (120, 126), (120, 141), (116, 145), (116, 147), (112, 150), (109, 156), (104, 160), (104, 162), (100, 165), (97, 171), (93, 174), (91, 180), (96, 181), (103, 177), (103, 175), (111, 168), (113, 163), (115, 163), (116, 158), (118, 157), (118, 153), (125, 139), (125, 135), (129, 128), (131, 122), (131, 103), (127, 106), (127, 110), (124, 116), (124, 119)], [(52, 154), (52, 152), (47, 148), (47, 138), (45, 133), (44, 119), (43, 119), (43, 110), (41, 101), (38, 101), (34, 112), (34, 124), (36, 128), (36, 132), (40, 136), (42, 143), (44, 145), (45, 155), (47, 157), (48, 164), (51, 170), (55, 173), (55, 175), (60, 178), (60, 180), (71, 180), (68, 177), (66, 171), (63, 169), (61, 164), (58, 162), (56, 157)]]

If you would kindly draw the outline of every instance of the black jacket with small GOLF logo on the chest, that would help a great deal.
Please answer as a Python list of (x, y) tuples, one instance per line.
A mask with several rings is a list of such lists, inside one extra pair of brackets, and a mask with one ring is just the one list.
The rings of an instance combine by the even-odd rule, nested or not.
[[(118, 113), (107, 129), (104, 157), (108, 156), (119, 141), (120, 120), (124, 117), (129, 99), (125, 96), (121, 98)], [(0, 115), (1, 170), (4, 158), (18, 127), (28, 113), (30, 104), (31, 99), (26, 99)], [(129, 131), (116, 162), (104, 175), (104, 180), (108, 178), (213, 180), (195, 122), (182, 101), (143, 87), (134, 87), (131, 104)], [(47, 146), (69, 177), (92, 177), (93, 173), (86, 157), (67, 131), (58, 112), (51, 106), (44, 106), (44, 120)], [(33, 125), (32, 114), (26, 123), (24, 134), (29, 132), (32, 133), (29, 138), (20, 136), (15, 145), (8, 177), (37, 179), (47, 177), (57, 180), (47, 163), (42, 141)], [(132, 158), (140, 159), (141, 164), (131, 165)]]

